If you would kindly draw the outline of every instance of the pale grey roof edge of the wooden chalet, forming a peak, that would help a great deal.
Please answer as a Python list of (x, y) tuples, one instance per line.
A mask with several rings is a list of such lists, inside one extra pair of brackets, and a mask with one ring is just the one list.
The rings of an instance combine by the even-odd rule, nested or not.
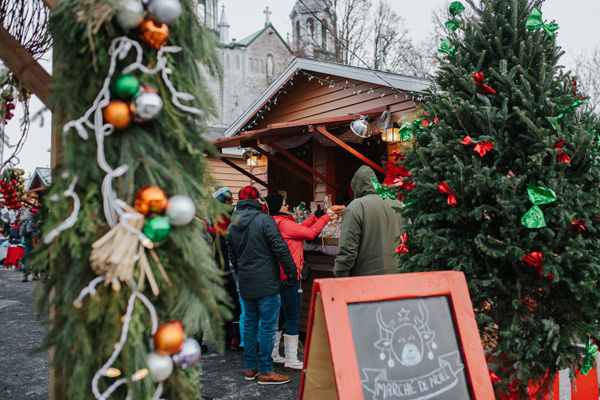
[(419, 93), (429, 86), (426, 79), (414, 76), (401, 75), (391, 72), (369, 70), (368, 68), (354, 67), (328, 61), (319, 61), (308, 58), (295, 58), (289, 67), (269, 86), (255, 101), (244, 111), (238, 119), (225, 131), (224, 136), (230, 137), (240, 134), (240, 130), (272, 99), (279, 90), (299, 71), (320, 73), (353, 79), (378, 86), (396, 88), (403, 92)]

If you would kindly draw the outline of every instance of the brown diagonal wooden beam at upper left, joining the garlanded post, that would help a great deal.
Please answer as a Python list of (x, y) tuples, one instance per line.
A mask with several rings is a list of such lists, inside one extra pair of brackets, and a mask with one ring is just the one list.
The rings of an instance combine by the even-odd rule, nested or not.
[(27, 90), (48, 105), (48, 98), (52, 94), (52, 77), (2, 26), (0, 26), (0, 59)]

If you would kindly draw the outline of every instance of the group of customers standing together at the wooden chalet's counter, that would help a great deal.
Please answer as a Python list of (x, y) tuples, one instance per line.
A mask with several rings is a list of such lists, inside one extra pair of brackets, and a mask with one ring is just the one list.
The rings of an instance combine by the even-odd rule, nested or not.
[(279, 385), (290, 382), (290, 376), (277, 372), (274, 364), (285, 370), (302, 369), (298, 343), (303, 243), (317, 237), (336, 213), (344, 213), (336, 277), (396, 272), (396, 238), (403, 219), (395, 208), (400, 204), (377, 194), (375, 177), (370, 167), (359, 168), (351, 182), (354, 198), (345, 210), (339, 206), (317, 210), (301, 224), (281, 194), (263, 199), (258, 189), (246, 186), (234, 205), (228, 188), (215, 187), (213, 197), (223, 211), (210, 228), (215, 261), (226, 271), (226, 288), (237, 300), (234, 319), (225, 326), (225, 344), (244, 350), (246, 380)]

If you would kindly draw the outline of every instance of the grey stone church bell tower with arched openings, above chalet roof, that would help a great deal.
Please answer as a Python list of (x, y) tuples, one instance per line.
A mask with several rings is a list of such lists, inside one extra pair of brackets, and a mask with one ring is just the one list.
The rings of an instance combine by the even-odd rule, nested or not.
[(332, 13), (327, 5), (318, 0), (302, 2), (298, 0), (292, 9), (290, 19), (292, 20), (291, 47), (295, 55), (323, 59), (333, 54), (333, 36), (321, 24), (323, 21), (331, 27), (333, 23)]

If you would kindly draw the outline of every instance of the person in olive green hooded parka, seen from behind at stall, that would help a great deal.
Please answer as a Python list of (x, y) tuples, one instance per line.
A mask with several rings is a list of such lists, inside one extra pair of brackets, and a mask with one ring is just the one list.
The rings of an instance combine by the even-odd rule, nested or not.
[(350, 182), (354, 199), (342, 219), (333, 270), (336, 277), (394, 274), (398, 270), (395, 255), (404, 220), (395, 208), (402, 203), (378, 195), (373, 177), (373, 169), (363, 165)]

